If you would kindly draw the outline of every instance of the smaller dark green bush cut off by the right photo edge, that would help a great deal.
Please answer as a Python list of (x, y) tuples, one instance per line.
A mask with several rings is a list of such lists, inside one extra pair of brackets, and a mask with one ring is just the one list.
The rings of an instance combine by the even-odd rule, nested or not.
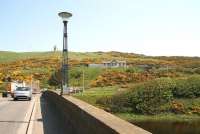
[(177, 80), (173, 95), (177, 98), (200, 97), (200, 76)]

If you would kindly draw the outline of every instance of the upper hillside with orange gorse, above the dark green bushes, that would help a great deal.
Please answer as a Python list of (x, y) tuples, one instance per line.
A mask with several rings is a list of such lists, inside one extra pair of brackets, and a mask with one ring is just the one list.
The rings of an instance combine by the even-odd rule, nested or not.
[[(0, 51), (0, 82), (11, 77), (26, 80), (30, 75), (48, 85), (48, 80), (61, 67), (61, 52), (5, 52)], [(129, 69), (91, 69), (76, 67), (104, 60), (126, 60)], [(133, 82), (143, 82), (159, 77), (180, 77), (200, 74), (198, 57), (148, 57), (121, 52), (69, 52), (70, 82), (80, 86), (82, 71), (85, 70), (86, 86), (114, 86)], [(149, 65), (149, 70), (135, 67)], [(78, 76), (78, 77), (77, 77)]]

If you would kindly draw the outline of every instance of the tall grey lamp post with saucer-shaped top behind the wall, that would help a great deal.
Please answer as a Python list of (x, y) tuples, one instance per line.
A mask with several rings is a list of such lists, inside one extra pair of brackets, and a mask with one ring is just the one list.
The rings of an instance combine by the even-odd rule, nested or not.
[(68, 92), (69, 86), (69, 78), (68, 78), (68, 42), (67, 42), (67, 23), (70, 17), (72, 17), (71, 13), (68, 12), (60, 12), (58, 14), (63, 20), (64, 29), (63, 29), (63, 57), (62, 57), (62, 88), (60, 95), (63, 95), (63, 89)]

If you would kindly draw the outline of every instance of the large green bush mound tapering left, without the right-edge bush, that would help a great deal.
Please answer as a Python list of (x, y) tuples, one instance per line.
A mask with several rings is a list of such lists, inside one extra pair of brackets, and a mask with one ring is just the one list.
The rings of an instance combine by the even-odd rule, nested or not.
[[(105, 101), (113, 112), (132, 111), (142, 114), (162, 112), (162, 105), (173, 98), (172, 89), (175, 83), (170, 78), (161, 78), (134, 86), (131, 90), (113, 96)], [(106, 104), (106, 103), (107, 104)]]

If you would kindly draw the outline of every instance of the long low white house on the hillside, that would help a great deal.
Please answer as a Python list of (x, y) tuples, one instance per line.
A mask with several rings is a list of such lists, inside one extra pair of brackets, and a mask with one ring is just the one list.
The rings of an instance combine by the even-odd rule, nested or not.
[(89, 64), (89, 67), (102, 67), (102, 68), (117, 68), (117, 67), (127, 67), (126, 61), (111, 60), (104, 61), (101, 64)]

